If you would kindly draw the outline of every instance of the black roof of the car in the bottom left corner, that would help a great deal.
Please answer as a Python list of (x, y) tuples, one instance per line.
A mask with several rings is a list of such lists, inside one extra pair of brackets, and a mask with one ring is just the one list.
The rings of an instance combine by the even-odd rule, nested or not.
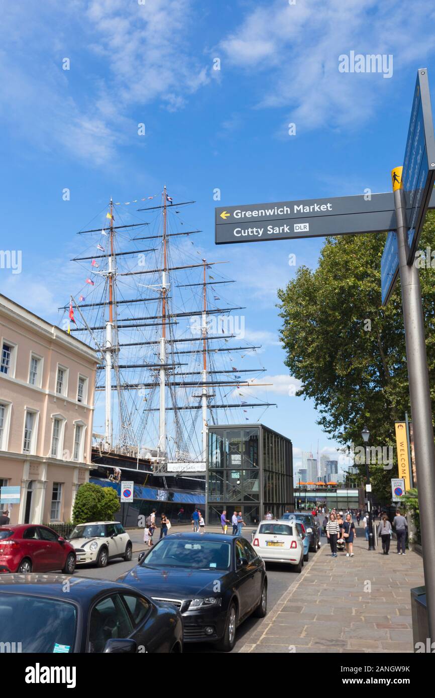
[[(69, 582), (65, 593), (65, 582)], [(71, 574), (0, 574), (0, 593), (26, 593), (35, 596), (61, 597), (68, 601), (83, 601), (105, 591), (131, 589), (127, 584), (108, 579), (75, 577)]]

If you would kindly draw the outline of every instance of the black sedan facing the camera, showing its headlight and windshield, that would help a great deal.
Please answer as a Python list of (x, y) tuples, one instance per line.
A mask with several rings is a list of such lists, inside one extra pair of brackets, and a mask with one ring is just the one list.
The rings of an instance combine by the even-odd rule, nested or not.
[(233, 649), (237, 625), (267, 612), (265, 564), (242, 536), (172, 533), (118, 581), (177, 606), (184, 642), (214, 642), (223, 652)]

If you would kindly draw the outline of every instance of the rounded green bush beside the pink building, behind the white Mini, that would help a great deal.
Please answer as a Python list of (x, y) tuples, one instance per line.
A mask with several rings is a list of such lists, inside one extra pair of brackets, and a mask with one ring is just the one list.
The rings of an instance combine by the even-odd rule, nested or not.
[(115, 489), (85, 482), (75, 496), (73, 523), (110, 521), (119, 510), (119, 506)]

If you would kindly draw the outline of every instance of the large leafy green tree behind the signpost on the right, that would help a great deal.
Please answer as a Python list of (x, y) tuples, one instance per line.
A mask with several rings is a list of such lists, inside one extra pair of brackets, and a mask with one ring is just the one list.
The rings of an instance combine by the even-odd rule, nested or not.
[[(326, 239), (315, 271), (297, 269), (278, 292), (286, 366), (314, 401), (318, 424), (343, 445), (360, 445), (367, 425), (371, 445), (395, 445), (395, 421), (410, 412), (401, 292), (381, 306), (381, 256), (385, 234)], [(427, 246), (431, 249), (427, 251)], [(435, 398), (435, 215), (427, 214), (418, 265), (432, 402)], [(394, 449), (395, 457), (396, 450)], [(360, 466), (361, 474), (364, 466)], [(373, 489), (390, 500), (397, 466), (370, 467)]]

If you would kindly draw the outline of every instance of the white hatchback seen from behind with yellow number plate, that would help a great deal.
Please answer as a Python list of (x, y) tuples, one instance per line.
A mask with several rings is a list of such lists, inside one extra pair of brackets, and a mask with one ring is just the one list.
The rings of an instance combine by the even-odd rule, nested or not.
[(260, 521), (253, 534), (253, 548), (267, 563), (293, 565), (296, 572), (304, 566), (304, 543), (295, 521)]

